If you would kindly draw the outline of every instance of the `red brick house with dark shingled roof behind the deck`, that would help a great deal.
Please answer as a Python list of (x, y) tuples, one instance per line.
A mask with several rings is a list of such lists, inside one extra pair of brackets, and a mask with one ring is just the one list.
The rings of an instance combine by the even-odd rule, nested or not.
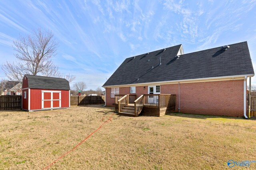
[[(103, 87), (106, 106), (121, 107), (118, 100), (127, 98), (126, 106), (117, 109), (121, 115), (143, 114), (146, 100), (155, 107), (160, 105), (161, 94), (170, 94), (175, 96), (172, 111), (247, 117), (246, 82), (252, 76), (254, 69), (247, 42), (188, 54), (184, 54), (182, 45), (176, 45), (125, 59)], [(129, 100), (129, 95), (136, 102), (141, 101), (135, 115), (132, 108), (138, 106)], [(161, 114), (159, 108), (160, 114), (156, 116), (168, 114), (168, 111)]]

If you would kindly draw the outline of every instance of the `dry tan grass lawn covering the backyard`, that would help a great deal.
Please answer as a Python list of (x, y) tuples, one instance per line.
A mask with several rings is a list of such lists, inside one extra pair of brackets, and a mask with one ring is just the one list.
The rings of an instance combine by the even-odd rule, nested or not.
[[(113, 111), (112, 107), (88, 106), (0, 112), (0, 169), (43, 169)], [(178, 113), (113, 115), (112, 122), (50, 169), (230, 169), (228, 160), (255, 160), (255, 155), (253, 119)]]

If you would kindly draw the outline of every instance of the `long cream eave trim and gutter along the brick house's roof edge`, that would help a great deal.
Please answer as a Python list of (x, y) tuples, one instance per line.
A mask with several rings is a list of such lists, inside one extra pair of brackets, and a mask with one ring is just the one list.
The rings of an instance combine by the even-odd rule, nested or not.
[(162, 81), (162, 82), (148, 82), (148, 83), (137, 83), (137, 84), (122, 84), (122, 85), (112, 85), (112, 86), (102, 86), (104, 88), (114, 88), (114, 87), (127, 87), (127, 86), (147, 86), (149, 85), (162, 85), (162, 84), (178, 84), (180, 83), (193, 83), (193, 82), (210, 82), (210, 81), (225, 81), (225, 80), (243, 80), (244, 76), (253, 77), (254, 74), (248, 75), (237, 75), (237, 76), (222, 76), (222, 77), (210, 77), (210, 78), (195, 78), (186, 80), (172, 80), (172, 81)]

